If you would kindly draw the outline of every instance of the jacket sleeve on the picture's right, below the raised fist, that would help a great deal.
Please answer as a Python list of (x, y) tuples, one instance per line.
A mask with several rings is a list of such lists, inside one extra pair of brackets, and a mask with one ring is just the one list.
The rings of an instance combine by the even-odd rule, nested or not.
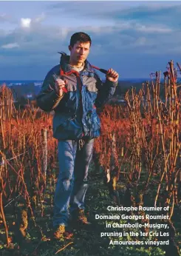
[(112, 82), (106, 79), (106, 81), (103, 83), (103, 81), (98, 76), (97, 80), (97, 88), (98, 88), (98, 96), (95, 99), (95, 107), (103, 107), (103, 105), (106, 104), (109, 99), (112, 98), (112, 96), (115, 93), (115, 89), (117, 87), (117, 82)]

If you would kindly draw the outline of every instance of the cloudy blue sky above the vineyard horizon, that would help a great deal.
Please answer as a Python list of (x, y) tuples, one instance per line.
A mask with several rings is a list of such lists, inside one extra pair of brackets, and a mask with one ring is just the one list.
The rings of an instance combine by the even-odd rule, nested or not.
[(78, 31), (91, 64), (120, 78), (164, 72), (181, 64), (180, 13), (180, 1), (0, 1), (0, 80), (44, 79)]

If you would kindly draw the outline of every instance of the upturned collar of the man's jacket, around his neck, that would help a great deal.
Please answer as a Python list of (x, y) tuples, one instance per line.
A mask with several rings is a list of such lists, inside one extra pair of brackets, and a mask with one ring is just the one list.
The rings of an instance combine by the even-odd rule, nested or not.
[[(72, 70), (72, 67), (69, 64), (69, 55), (66, 55), (66, 53), (62, 54), (61, 53), (61, 68), (64, 70), (64, 72), (69, 72)], [(85, 66), (84, 69), (82, 70), (82, 72), (91, 72), (91, 73), (95, 73), (95, 70), (93, 70), (91, 64), (89, 63), (89, 61), (85, 61)]]

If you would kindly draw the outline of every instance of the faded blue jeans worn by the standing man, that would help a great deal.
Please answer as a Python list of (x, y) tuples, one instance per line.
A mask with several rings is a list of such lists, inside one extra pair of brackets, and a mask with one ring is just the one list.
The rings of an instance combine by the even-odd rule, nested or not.
[(53, 226), (65, 225), (75, 209), (85, 209), (87, 176), (92, 160), (93, 139), (58, 141), (59, 175), (55, 189)]

